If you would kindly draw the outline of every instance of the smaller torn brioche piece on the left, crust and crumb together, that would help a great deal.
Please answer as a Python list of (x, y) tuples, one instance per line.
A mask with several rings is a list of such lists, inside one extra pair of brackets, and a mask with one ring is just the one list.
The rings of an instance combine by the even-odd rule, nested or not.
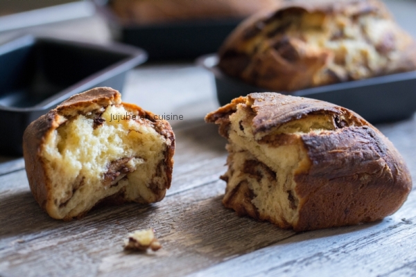
[[(134, 114), (137, 119), (120, 124), (113, 122), (110, 126), (110, 111), (125, 111)], [(162, 200), (166, 189), (171, 186), (175, 136), (166, 120), (154, 118), (152, 113), (137, 105), (121, 102), (118, 91), (101, 87), (72, 96), (35, 120), (24, 132), (23, 150), (29, 185), (36, 201), (51, 217), (70, 220), (82, 217), (98, 203), (151, 203)], [(77, 126), (78, 123), (84, 125)], [(86, 130), (85, 126), (89, 129)], [(124, 126), (132, 129), (123, 129)], [(107, 129), (103, 132), (104, 128)], [(115, 141), (101, 138), (97, 142), (102, 133), (110, 133), (109, 130), (114, 134), (108, 138)], [(79, 136), (74, 138), (74, 132)], [(83, 141), (87, 137), (89, 141)], [(130, 148), (126, 148), (126, 155), (130, 153), (128, 157), (123, 156), (123, 150), (119, 150), (118, 154), (112, 153), (117, 148), (123, 148), (123, 139), (133, 141)], [(142, 146), (135, 145), (135, 140), (144, 143), (146, 139), (153, 139), (153, 146), (159, 145), (161, 150), (145, 159), (145, 154), (137, 156), (137, 153), (146, 150), (138, 150)], [(83, 145), (83, 142), (95, 144)], [(71, 143), (76, 145), (76, 151), (71, 152)], [(79, 154), (77, 156), (78, 151), (86, 151), (87, 159)], [(146, 165), (153, 158), (154, 163)], [(103, 163), (98, 168), (97, 176), (94, 176), (92, 169), (95, 163)], [(71, 169), (76, 167), (74, 164), (79, 168)], [(70, 170), (75, 175), (71, 175), (73, 172)], [(139, 170), (148, 170), (147, 179), (137, 176), (135, 172)], [(77, 199), (83, 201), (76, 202)]]

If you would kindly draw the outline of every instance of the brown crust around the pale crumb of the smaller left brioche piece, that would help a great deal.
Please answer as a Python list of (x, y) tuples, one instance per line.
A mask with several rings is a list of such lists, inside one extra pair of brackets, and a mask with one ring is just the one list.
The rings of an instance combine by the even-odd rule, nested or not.
[[(43, 156), (45, 150), (46, 138), (54, 132), (60, 125), (67, 122), (69, 118), (77, 115), (91, 114), (91, 111), (107, 107), (110, 105), (121, 105), (127, 110), (135, 111), (139, 116), (148, 118), (149, 126), (153, 127), (155, 131), (166, 139), (166, 149), (164, 150), (164, 159), (159, 163), (157, 172), (163, 172), (165, 178), (163, 186), (151, 185), (150, 190), (153, 192), (153, 199), (155, 202), (164, 198), (166, 189), (171, 186), (172, 170), (173, 170), (173, 154), (175, 152), (175, 135), (171, 129), (171, 126), (166, 120), (154, 120), (154, 114), (150, 111), (145, 111), (137, 105), (121, 102), (121, 94), (109, 87), (100, 87), (85, 91), (72, 96), (68, 100), (62, 102), (56, 109), (52, 109), (44, 116), (40, 116), (37, 120), (33, 121), (31, 125), (26, 128), (23, 138), (23, 150), (24, 161), (26, 167), (26, 174), (29, 181), (29, 186), (36, 201), (42, 209), (44, 209), (49, 215), (54, 218), (60, 218), (55, 215), (54, 209), (56, 206), (56, 199), (53, 199), (51, 194), (52, 181), (49, 177), (48, 170), (46, 169), (46, 160)], [(96, 121), (94, 120), (94, 125)], [(98, 120), (98, 125), (102, 124), (102, 121)], [(95, 128), (95, 127), (94, 127)], [(131, 159), (131, 158), (130, 158)], [(127, 161), (114, 161), (108, 166), (108, 172), (105, 173), (105, 177), (109, 180), (116, 179), (115, 177), (119, 173), (110, 171), (130, 172), (127, 168), (123, 167)], [(124, 171), (123, 171), (124, 170)], [(114, 176), (115, 177), (114, 177)], [(160, 174), (159, 174), (160, 175)], [(83, 180), (80, 181), (82, 186)], [(78, 187), (74, 187), (74, 190)], [(146, 199), (141, 199), (141, 202), (146, 202)], [(135, 200), (136, 201), (136, 200)], [(123, 204), (125, 202), (132, 202), (131, 199), (127, 199), (125, 195), (125, 188), (122, 188), (114, 195), (109, 195), (105, 199), (101, 199), (96, 204)], [(137, 201), (136, 201), (137, 202)], [(153, 202), (153, 201), (152, 201)], [(66, 203), (64, 203), (66, 204)], [(72, 217), (82, 217), (87, 211), (83, 211), (76, 216), (64, 217), (64, 220), (71, 220)]]

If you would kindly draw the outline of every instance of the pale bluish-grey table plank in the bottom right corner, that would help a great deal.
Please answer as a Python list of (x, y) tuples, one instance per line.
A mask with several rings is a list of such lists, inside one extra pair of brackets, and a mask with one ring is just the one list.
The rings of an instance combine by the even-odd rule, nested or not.
[(297, 234), (190, 276), (416, 274), (416, 193), (381, 222)]

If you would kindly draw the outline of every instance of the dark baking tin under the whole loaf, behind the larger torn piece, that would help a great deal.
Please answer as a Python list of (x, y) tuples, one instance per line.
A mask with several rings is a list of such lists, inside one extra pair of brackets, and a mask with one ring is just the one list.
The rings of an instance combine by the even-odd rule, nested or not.
[[(232, 99), (248, 93), (270, 91), (222, 73), (217, 67), (217, 55), (202, 56), (197, 64), (214, 73), (220, 105), (226, 105)], [(285, 91), (277, 92), (288, 94)], [(302, 89), (290, 94), (352, 109), (370, 123), (395, 121), (412, 116), (416, 110), (416, 71)]]

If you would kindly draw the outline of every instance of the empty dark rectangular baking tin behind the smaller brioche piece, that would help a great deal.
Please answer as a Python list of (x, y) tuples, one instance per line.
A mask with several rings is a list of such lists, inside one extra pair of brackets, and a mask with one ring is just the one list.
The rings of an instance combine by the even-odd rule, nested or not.
[(0, 154), (21, 154), (22, 136), (36, 118), (93, 87), (121, 91), (129, 69), (146, 52), (26, 36), (0, 46)]

